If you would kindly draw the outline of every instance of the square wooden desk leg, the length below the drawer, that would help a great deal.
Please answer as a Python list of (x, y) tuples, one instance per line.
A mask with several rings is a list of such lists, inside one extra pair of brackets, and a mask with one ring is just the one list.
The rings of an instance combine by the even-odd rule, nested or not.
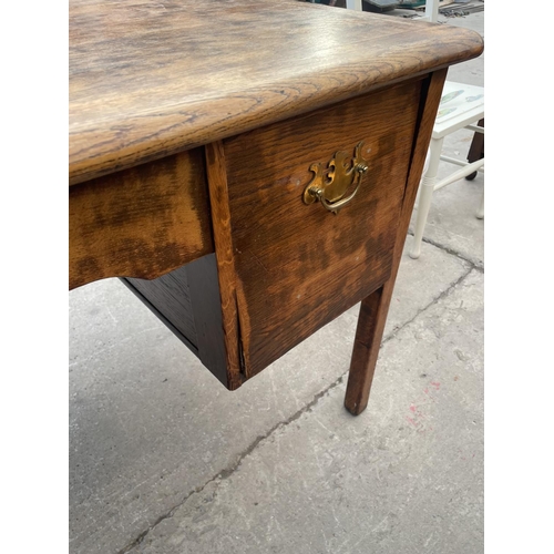
[[(391, 289), (388, 293), (388, 289)], [(387, 321), (392, 287), (382, 286), (361, 301), (358, 327), (353, 341), (350, 372), (348, 375), (346, 409), (359, 416), (368, 406), (381, 338)]]

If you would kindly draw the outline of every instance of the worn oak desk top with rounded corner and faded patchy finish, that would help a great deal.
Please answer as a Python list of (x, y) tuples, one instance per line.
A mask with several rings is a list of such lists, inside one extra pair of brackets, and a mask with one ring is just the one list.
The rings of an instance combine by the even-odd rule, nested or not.
[(70, 184), (482, 49), (473, 31), (296, 0), (70, 0)]

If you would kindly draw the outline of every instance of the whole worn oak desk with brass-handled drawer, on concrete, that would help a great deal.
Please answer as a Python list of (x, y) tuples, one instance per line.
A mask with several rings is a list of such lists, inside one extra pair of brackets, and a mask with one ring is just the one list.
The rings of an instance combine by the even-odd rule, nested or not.
[(229, 389), (361, 301), (360, 413), (447, 69), (482, 49), (295, 0), (70, 0), (70, 288), (124, 278)]

